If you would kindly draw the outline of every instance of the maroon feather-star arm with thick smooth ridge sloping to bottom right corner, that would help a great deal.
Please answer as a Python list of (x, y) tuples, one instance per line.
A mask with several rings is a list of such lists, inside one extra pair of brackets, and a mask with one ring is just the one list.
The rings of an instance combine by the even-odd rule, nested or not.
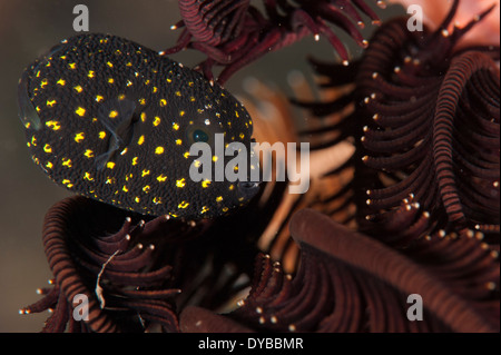
[[(188, 307), (181, 329), (499, 332), (499, 255), (477, 238), (422, 239), (400, 253), (311, 209), (294, 215), (291, 233), (301, 247), (295, 276), (261, 255), (239, 308)], [(421, 314), (410, 296), (421, 299)]]

